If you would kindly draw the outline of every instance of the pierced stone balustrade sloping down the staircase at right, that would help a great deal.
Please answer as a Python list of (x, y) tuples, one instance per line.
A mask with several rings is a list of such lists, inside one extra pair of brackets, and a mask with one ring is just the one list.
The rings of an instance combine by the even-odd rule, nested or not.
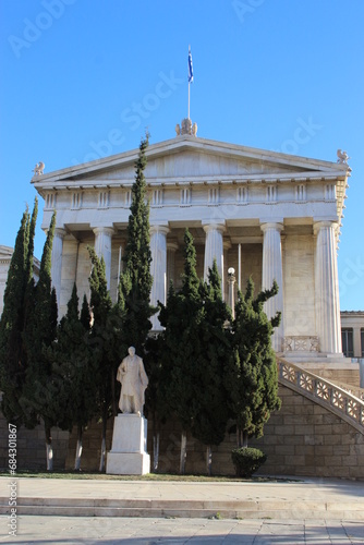
[(364, 401), (283, 358), (277, 358), (277, 364), (281, 385), (325, 407), (364, 435)]

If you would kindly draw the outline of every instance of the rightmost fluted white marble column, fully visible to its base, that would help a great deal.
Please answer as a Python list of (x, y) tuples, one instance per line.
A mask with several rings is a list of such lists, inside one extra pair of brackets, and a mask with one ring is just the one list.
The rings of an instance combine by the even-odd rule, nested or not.
[(317, 221), (315, 255), (315, 304), (320, 352), (341, 353), (338, 262), (333, 221)]

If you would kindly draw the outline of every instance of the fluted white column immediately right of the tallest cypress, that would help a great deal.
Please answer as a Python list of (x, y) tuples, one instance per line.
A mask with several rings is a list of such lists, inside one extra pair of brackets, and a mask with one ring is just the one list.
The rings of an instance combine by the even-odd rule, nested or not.
[[(150, 304), (157, 306), (157, 302), (166, 304), (167, 302), (167, 233), (166, 226), (150, 227), (150, 252), (151, 264), (150, 275), (153, 276), (153, 286), (150, 292)], [(151, 330), (158, 331), (162, 327), (158, 319), (158, 313), (151, 316)]]

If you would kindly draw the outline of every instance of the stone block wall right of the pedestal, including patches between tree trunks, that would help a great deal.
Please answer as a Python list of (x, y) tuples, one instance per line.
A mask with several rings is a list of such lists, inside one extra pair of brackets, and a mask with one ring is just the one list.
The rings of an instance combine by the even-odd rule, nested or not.
[[(327, 409), (280, 386), (282, 408), (271, 415), (264, 436), (251, 439), (250, 446), (260, 448), (267, 462), (260, 474), (316, 477), (364, 479), (364, 435)], [(153, 458), (151, 429), (148, 429), (148, 452)], [(161, 428), (159, 471), (178, 472), (181, 428), (168, 423)], [(231, 450), (235, 434), (213, 447), (213, 473), (233, 474)], [(186, 473), (206, 473), (206, 448), (187, 436)]]

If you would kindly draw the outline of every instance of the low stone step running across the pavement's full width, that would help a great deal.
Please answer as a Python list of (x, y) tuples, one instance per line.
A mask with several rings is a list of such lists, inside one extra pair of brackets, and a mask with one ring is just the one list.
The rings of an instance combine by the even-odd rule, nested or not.
[[(8, 498), (0, 513), (9, 514)], [(158, 500), (107, 498), (17, 498), (17, 514), (72, 517), (186, 517), (225, 519), (350, 519), (364, 521), (364, 501), (315, 500)]]

